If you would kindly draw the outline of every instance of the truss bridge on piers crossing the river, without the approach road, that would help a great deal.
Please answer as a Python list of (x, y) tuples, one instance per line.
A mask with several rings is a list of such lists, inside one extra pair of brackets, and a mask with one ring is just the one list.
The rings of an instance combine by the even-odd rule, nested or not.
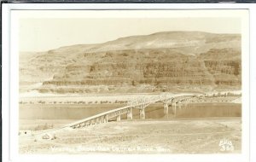
[[(190, 98), (191, 96), (188, 95)], [(195, 95), (192, 95), (193, 97)], [(189, 98), (187, 95), (183, 96), (170, 96), (170, 95), (160, 95), (158, 97), (151, 97), (149, 99), (142, 98), (138, 99), (137, 101), (132, 101), (131, 103), (128, 104), (127, 107), (119, 107), (116, 109), (113, 109), (111, 111), (105, 112), (105, 113), (100, 113), (95, 116), (92, 116), (87, 119), (79, 120), (79, 122), (75, 122), (73, 124), (68, 124), (66, 126), (71, 127), (73, 129), (81, 128), (81, 127), (86, 127), (94, 124), (102, 124), (102, 123), (108, 123), (108, 119), (114, 119), (116, 118), (116, 121), (121, 120), (121, 115), (126, 114), (127, 119), (132, 119), (132, 108), (137, 108), (139, 109), (139, 117), (140, 119), (146, 119), (145, 115), (145, 108), (148, 107), (148, 105), (161, 101), (163, 102), (164, 106), (164, 114), (165, 117), (169, 117), (169, 105), (172, 106), (172, 117), (176, 118), (178, 116), (178, 110), (185, 107), (187, 108), (187, 104), (189, 102)], [(183, 104), (185, 102), (185, 106)], [(131, 105), (130, 105), (131, 104)], [(65, 127), (66, 127), (65, 126)]]

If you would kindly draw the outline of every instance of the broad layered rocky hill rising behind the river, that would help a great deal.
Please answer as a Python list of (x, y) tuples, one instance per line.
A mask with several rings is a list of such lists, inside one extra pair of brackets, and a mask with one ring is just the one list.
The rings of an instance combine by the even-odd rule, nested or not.
[(241, 35), (158, 32), (23, 54), (20, 85), (41, 93), (240, 90)]

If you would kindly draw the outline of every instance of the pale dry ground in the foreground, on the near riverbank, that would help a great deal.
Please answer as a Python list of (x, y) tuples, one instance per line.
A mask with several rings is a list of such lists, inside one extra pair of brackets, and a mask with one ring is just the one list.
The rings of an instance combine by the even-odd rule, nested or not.
[[(241, 118), (123, 120), (55, 136), (20, 136), (20, 153), (241, 153)], [(234, 151), (221, 151), (224, 139)]]

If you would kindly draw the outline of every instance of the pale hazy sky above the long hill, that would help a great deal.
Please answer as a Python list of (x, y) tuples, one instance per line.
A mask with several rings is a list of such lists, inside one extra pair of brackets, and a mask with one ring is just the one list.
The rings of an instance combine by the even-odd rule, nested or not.
[(21, 19), (20, 51), (46, 51), (73, 44), (104, 43), (131, 35), (168, 31), (241, 33), (241, 20), (211, 17)]

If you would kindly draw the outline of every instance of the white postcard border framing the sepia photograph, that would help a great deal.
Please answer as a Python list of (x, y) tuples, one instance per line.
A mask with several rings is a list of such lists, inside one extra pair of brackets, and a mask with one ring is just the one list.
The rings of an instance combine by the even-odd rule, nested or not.
[[(253, 29), (255, 29), (255, 17), (253, 19), (253, 15), (256, 15), (255, 13), (255, 9), (256, 6), (253, 5), (247, 5), (247, 4), (241, 4), (241, 5), (237, 5), (237, 4), (223, 4), (223, 5), (219, 5), (219, 4), (9, 4), (8, 5), (3, 5), (3, 160), (9, 161), (9, 156), (7, 156), (9, 154), (10, 151), (10, 156), (11, 159), (14, 161), (20, 161), (20, 160), (24, 160), (24, 161), (34, 161), (35, 159), (37, 161), (55, 161), (55, 160), (63, 160), (65, 159), (65, 161), (69, 161), (69, 160), (73, 160), (73, 158), (79, 159), (79, 160), (84, 160), (84, 159), (93, 159), (96, 161), (117, 161), (117, 160), (122, 160), (122, 161), (134, 161), (134, 160), (148, 160), (148, 161), (155, 161), (155, 160), (160, 160), (160, 161), (170, 161), (170, 160), (175, 160), (175, 161), (192, 161), (192, 159), (195, 159), (195, 161), (247, 161), (247, 157), (248, 157), (248, 149), (247, 146), (242, 146), (243, 150), (246, 153), (242, 153), (243, 156), (241, 157), (241, 155), (234, 155), (234, 154), (224, 154), (224, 155), (183, 155), (183, 154), (179, 154), (179, 155), (31, 155), (31, 156), (26, 156), (26, 155), (21, 155), (18, 156), (17, 154), (17, 148), (15, 148), (14, 146), (17, 146), (18, 141), (15, 141), (14, 139), (17, 140), (17, 137), (15, 138), (15, 136), (9, 136), (9, 124), (11, 124), (10, 126), (10, 130), (11, 132), (17, 132), (17, 125), (15, 125), (14, 123), (17, 124), (17, 121), (13, 121), (15, 120), (15, 117), (17, 117), (17, 112), (14, 112), (12, 110), (10, 110), (11, 112), (9, 113), (9, 109), (8, 107), (18, 107), (18, 101), (13, 101), (13, 97), (18, 97), (18, 93), (14, 93), (15, 91), (18, 90), (19, 84), (18, 82), (15, 82), (17, 80), (19, 80), (17, 73), (13, 72), (13, 69), (15, 68), (15, 71), (18, 72), (18, 68), (13, 67), (14, 65), (18, 65), (18, 56), (15, 55), (17, 54), (17, 49), (18, 48), (13, 48), (13, 45), (16, 43), (17, 44), (17, 40), (15, 38), (15, 36), (17, 35), (16, 32), (10, 32), (9, 33), (9, 23), (4, 24), (4, 22), (9, 22), (9, 11), (10, 9), (252, 9), (250, 10), (250, 20), (251, 20), (251, 26), (250, 26), (250, 40), (251, 40), (251, 44), (250, 44), (250, 61), (251, 64), (249, 64), (249, 57), (245, 56), (243, 57), (243, 61), (246, 61), (246, 65), (244, 64), (244, 62), (242, 62), (243, 65), (245, 65), (244, 67), (242, 67), (242, 75), (243, 75), (243, 81), (244, 81), (244, 76), (246, 75), (249, 76), (249, 72), (251, 74), (251, 90), (250, 93), (251, 95), (249, 96), (248, 93), (245, 93), (247, 95), (243, 94), (243, 101), (242, 101), (242, 105), (244, 106), (249, 106), (249, 102), (247, 101), (249, 97), (251, 97), (251, 99), (253, 99), (252, 97), (255, 96), (255, 85), (253, 85), (253, 83), (255, 83), (255, 72), (253, 72), (253, 70), (255, 70), (255, 63), (253, 65), (252, 63), (252, 59), (255, 58), (255, 56), (253, 55), (253, 52), (255, 53), (255, 47), (253, 46), (253, 42), (255, 42), (255, 32)], [(17, 23), (18, 21), (12, 21), (10, 22), (13, 26), (15, 23)], [(245, 20), (245, 22), (243, 24), (246, 24), (247, 20)], [(10, 34), (10, 37), (9, 37)], [(244, 35), (245, 34), (245, 35)], [(249, 38), (248, 33), (244, 32), (242, 34), (242, 36), (245, 36), (245, 38), (242, 39), (247, 39)], [(9, 43), (9, 39), (11, 40), (11, 42)], [(16, 40), (15, 40), (16, 39)], [(247, 46), (248, 43), (243, 43), (244, 41), (242, 40), (242, 49), (248, 49), (245, 48)], [(10, 48), (10, 46), (12, 48)], [(10, 50), (10, 51), (9, 51)], [(10, 56), (8, 55), (10, 52)], [(249, 51), (242, 51), (242, 55), (243, 54), (248, 54)], [(11, 61), (11, 62), (9, 62)], [(251, 69), (249, 71), (249, 65), (251, 65)], [(9, 68), (10, 66), (10, 68)], [(6, 78), (6, 79), (5, 79)], [(10, 79), (10, 80), (9, 80)], [(246, 80), (248, 81), (249, 78), (246, 78)], [(254, 81), (254, 82), (252, 82)], [(245, 88), (244, 90), (246, 90), (246, 92), (248, 92), (249, 90), (249, 84), (248, 82), (243, 82), (242, 83), (242, 87)], [(253, 88), (253, 89), (252, 89)], [(9, 91), (10, 89), (10, 91)], [(10, 100), (10, 102), (9, 102)], [(253, 110), (253, 107), (255, 106), (255, 103), (253, 102), (253, 100), (251, 100), (250, 103), (251, 109), (250, 109), (250, 113), (252, 114), (253, 112), (255, 113), (255, 111)], [(247, 109), (248, 111), (245, 111), (243, 113), (246, 113), (247, 115), (249, 115), (249, 109)], [(9, 116), (10, 115), (10, 116)], [(255, 125), (255, 118), (250, 118), (251, 119), (251, 128), (253, 125)], [(254, 119), (254, 120), (253, 120)], [(246, 136), (246, 138), (243, 138), (243, 143), (247, 143), (248, 144), (248, 129), (249, 127), (247, 126), (249, 123), (248, 119), (243, 119), (243, 121), (247, 121), (247, 123), (243, 122), (243, 137)], [(10, 123), (9, 123), (10, 122)], [(9, 124), (8, 124), (9, 123)], [(18, 134), (16, 134), (18, 135)], [(255, 132), (254, 134), (255, 135)], [(12, 140), (10, 140), (12, 139)], [(10, 142), (10, 146), (11, 149), (7, 149), (9, 148), (9, 142)], [(252, 147), (255, 146), (255, 139), (252, 138), (252, 131), (251, 131), (251, 151), (252, 151)], [(254, 147), (255, 148), (255, 147)], [(254, 149), (255, 150), (255, 149)], [(253, 153), (251, 154), (253, 156)], [(252, 159), (252, 157), (251, 157)]]

